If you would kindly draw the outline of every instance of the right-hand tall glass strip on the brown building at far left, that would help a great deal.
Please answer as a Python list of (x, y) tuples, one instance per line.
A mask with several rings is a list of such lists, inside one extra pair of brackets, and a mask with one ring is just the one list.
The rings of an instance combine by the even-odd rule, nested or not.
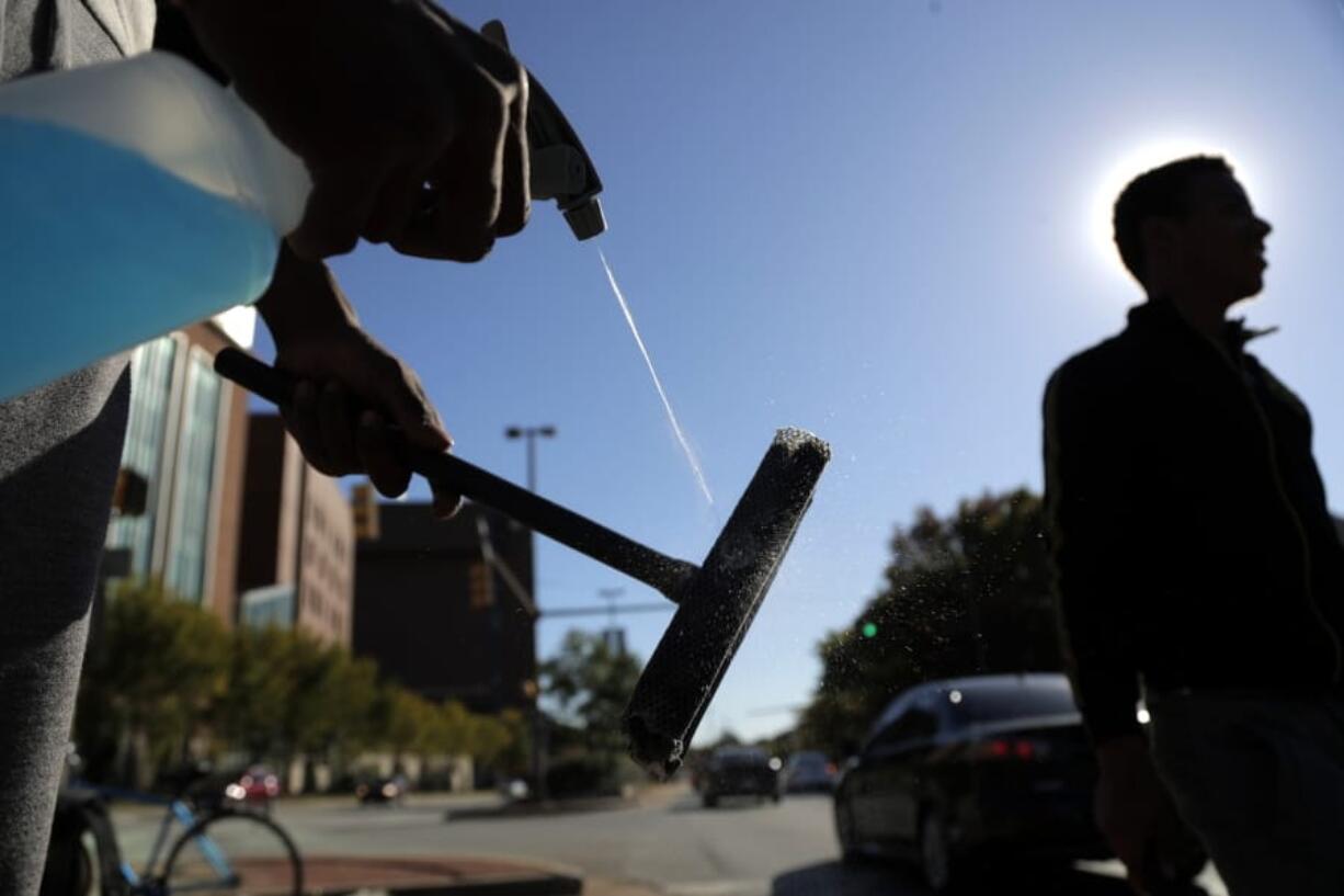
[(192, 348), (187, 363), (164, 584), (179, 596), (198, 603), (204, 585), (208, 549), (219, 394), (219, 375), (211, 369), (210, 355)]

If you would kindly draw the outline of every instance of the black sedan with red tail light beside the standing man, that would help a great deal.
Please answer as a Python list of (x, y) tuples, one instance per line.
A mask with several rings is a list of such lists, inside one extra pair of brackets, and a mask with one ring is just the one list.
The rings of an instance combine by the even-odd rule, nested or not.
[(1093, 821), (1095, 782), (1064, 675), (926, 682), (887, 706), (847, 764), (836, 834), (847, 858), (915, 858), (930, 889), (946, 892), (966, 866), (996, 858), (1110, 857)]

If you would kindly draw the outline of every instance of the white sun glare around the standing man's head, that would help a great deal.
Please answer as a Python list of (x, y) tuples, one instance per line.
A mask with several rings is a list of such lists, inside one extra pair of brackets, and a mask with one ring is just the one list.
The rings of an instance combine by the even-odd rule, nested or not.
[(1124, 270), (1111, 230), (1111, 210), (1116, 198), (1137, 175), (1157, 165), (1185, 156), (1222, 156), (1232, 165), (1236, 179), (1257, 203), (1265, 198), (1265, 184), (1258, 178), (1259, 165), (1247, 160), (1247, 152), (1235, 141), (1219, 136), (1165, 136), (1150, 137), (1133, 143), (1118, 156), (1110, 156), (1097, 165), (1098, 175), (1089, 180), (1093, 184), (1087, 206), (1087, 242), (1090, 253), (1109, 273)]

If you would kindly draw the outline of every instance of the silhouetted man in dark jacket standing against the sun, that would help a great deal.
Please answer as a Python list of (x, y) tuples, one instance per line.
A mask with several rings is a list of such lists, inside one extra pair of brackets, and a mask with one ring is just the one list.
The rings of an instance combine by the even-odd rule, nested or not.
[(1173, 800), (1234, 896), (1339, 896), (1344, 550), (1305, 405), (1246, 352), (1263, 334), (1226, 319), (1262, 288), (1270, 226), (1204, 156), (1136, 178), (1114, 225), (1148, 301), (1044, 406), (1097, 821), (1138, 887)]

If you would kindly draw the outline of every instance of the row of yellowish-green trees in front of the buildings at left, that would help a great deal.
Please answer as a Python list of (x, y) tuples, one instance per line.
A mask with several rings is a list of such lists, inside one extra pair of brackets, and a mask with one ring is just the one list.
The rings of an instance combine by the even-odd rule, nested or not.
[[(516, 764), (516, 713), (478, 716), (431, 702), (376, 665), (310, 635), (281, 628), (228, 631), (218, 618), (157, 583), (125, 584), (108, 601), (101, 659), (81, 683), (77, 737), (86, 756), (148, 744), (151, 768), (185, 757), (190, 743), (288, 764), (363, 749), (472, 755)], [(109, 759), (98, 771), (108, 768)]]

